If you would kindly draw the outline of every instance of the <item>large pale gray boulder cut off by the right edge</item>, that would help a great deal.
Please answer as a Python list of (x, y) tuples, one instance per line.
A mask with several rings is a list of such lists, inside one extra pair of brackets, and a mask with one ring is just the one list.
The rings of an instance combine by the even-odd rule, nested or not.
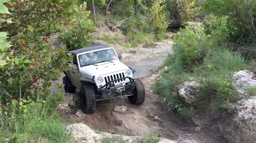
[(233, 103), (231, 116), (218, 123), (218, 128), (230, 142), (255, 142), (256, 140), (256, 95), (246, 91), (256, 88), (255, 75), (247, 70), (233, 74), (233, 87), (239, 93), (239, 101)]

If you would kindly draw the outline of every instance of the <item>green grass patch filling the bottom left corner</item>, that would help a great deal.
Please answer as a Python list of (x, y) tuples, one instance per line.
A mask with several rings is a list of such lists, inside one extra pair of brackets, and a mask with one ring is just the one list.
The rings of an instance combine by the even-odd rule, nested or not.
[(42, 98), (18, 98), (1, 107), (3, 138), (16, 142), (67, 142), (69, 134), (56, 112), (62, 94)]

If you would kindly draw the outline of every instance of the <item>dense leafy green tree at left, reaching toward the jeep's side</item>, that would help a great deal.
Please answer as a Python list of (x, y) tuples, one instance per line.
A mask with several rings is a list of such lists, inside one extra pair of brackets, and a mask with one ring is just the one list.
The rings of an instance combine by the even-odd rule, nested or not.
[[(52, 91), (52, 81), (58, 80), (60, 71), (70, 68), (66, 46), (55, 47), (49, 36), (69, 30), (73, 23), (81, 24), (88, 15), (79, 1), (10, 1), (7, 3), (12, 15), (2, 15), (4, 20), (12, 19), (1, 28), (8, 31), (11, 48), (1, 47), (0, 92), (2, 101), (10, 97), (46, 98)], [(80, 6), (79, 6), (79, 5)], [(85, 5), (82, 4), (82, 6)], [(25, 8), (25, 9), (24, 9)], [(10, 20), (9, 20), (10, 21)], [(91, 26), (88, 25), (88, 26)], [(3, 39), (6, 33), (2, 34)], [(6, 52), (6, 54), (5, 54)], [(3, 55), (5, 54), (5, 57)]]

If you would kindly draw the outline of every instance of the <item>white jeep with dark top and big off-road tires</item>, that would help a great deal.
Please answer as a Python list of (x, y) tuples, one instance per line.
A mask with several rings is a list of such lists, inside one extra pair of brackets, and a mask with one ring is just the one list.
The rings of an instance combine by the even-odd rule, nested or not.
[(133, 79), (133, 68), (120, 62), (113, 47), (100, 45), (70, 51), (74, 55), (71, 70), (64, 70), (65, 92), (80, 89), (80, 106), (84, 113), (96, 109), (96, 101), (128, 97), (131, 104), (140, 105), (145, 89), (139, 79)]

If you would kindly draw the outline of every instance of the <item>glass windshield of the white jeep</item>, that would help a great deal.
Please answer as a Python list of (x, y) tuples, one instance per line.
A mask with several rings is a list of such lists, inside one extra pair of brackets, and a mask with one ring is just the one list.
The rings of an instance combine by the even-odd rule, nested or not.
[(78, 56), (80, 67), (95, 65), (96, 63), (117, 60), (117, 55), (113, 49), (105, 49), (86, 53)]

